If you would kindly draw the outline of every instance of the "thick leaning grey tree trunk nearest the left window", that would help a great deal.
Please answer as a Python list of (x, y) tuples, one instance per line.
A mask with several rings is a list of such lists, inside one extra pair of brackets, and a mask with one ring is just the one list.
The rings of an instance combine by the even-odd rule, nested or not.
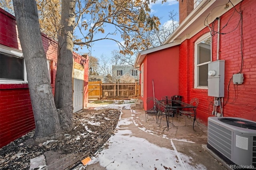
[(13, 0), (13, 5), (26, 63), (28, 87), (36, 124), (35, 137), (49, 137), (60, 130), (60, 123), (48, 76), (36, 1)]

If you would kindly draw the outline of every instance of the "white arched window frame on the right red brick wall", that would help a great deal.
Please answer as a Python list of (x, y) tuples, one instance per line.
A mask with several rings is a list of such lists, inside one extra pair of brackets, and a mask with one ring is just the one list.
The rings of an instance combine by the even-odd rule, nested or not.
[(195, 89), (208, 89), (208, 87), (206, 87), (206, 86), (198, 86), (198, 66), (212, 62), (212, 42), (211, 42), (211, 61), (208, 61), (208, 62), (202, 63), (202, 64), (197, 64), (197, 44), (202, 42), (203, 40), (205, 40), (206, 38), (208, 38), (210, 36), (211, 36), (210, 32), (206, 33), (203, 36), (201, 36), (198, 40), (196, 40), (196, 42), (195, 42), (195, 46), (194, 46), (194, 48), (195, 48), (195, 53), (194, 53), (194, 59), (195, 59), (194, 60), (194, 74), (195, 74), (195, 76), (194, 76), (194, 88)]

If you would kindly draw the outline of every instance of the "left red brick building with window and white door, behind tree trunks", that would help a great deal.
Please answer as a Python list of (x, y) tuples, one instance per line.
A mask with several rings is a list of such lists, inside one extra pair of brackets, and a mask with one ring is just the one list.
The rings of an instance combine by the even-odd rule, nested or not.
[[(15, 17), (0, 8), (0, 148), (35, 128)], [(42, 34), (54, 94), (58, 44)], [(74, 112), (88, 103), (88, 58), (73, 53)], [(82, 87), (82, 88), (81, 88)], [(38, 103), (40, 104), (40, 103)]]

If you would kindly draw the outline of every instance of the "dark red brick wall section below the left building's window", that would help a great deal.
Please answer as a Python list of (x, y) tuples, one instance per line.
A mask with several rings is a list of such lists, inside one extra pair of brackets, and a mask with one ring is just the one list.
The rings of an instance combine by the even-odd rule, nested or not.
[(0, 85), (0, 147), (35, 128), (28, 84)]

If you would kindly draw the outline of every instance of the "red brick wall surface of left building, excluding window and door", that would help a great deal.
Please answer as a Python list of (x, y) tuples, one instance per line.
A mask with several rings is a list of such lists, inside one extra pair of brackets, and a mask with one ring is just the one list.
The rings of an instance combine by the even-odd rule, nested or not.
[[(15, 17), (0, 8), (0, 44), (21, 50)], [(46, 57), (51, 61), (51, 85), (57, 66), (58, 44), (42, 34)], [(88, 59), (73, 53), (74, 61), (84, 66), (84, 107), (88, 103)], [(28, 84), (0, 84), (0, 148), (35, 128)]]

